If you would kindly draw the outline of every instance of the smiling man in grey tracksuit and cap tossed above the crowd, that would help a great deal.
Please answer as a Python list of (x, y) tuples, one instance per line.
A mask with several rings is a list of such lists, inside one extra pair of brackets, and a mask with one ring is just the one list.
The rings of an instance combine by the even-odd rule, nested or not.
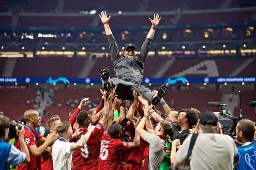
[(101, 70), (101, 78), (103, 82), (103, 88), (110, 90), (111, 86), (116, 86), (116, 95), (120, 99), (133, 100), (132, 91), (135, 89), (137, 94), (142, 94), (146, 99), (151, 101), (153, 105), (156, 105), (160, 99), (166, 95), (168, 87), (162, 85), (157, 93), (152, 92), (149, 88), (141, 85), (144, 72), (144, 64), (149, 51), (149, 45), (154, 37), (154, 33), (159, 24), (161, 18), (158, 14), (154, 14), (154, 19), (150, 19), (151, 28), (148, 32), (145, 42), (140, 48), (140, 54), (135, 56), (135, 46), (132, 44), (125, 45), (123, 54), (119, 54), (119, 49), (116, 44), (116, 40), (113, 37), (112, 31), (108, 25), (111, 16), (107, 17), (106, 11), (102, 11), (99, 17), (104, 25), (106, 35), (108, 37), (108, 43), (110, 48), (111, 60), (113, 61), (113, 67), (115, 70), (115, 78), (109, 78), (109, 70), (107, 67), (103, 67)]

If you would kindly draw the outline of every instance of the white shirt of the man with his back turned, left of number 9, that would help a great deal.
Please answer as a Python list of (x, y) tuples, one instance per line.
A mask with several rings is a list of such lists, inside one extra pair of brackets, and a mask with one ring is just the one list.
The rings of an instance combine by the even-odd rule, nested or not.
[(71, 145), (74, 143), (56, 140), (52, 144), (52, 161), (54, 170), (71, 170), (72, 154)]

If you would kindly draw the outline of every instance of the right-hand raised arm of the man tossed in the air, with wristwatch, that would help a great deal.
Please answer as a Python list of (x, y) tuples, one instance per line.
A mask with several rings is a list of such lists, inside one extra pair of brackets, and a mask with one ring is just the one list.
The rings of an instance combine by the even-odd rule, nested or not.
[(149, 51), (150, 42), (153, 39), (156, 28), (159, 25), (159, 21), (161, 20), (161, 18), (159, 18), (159, 14), (154, 14), (153, 20), (151, 18), (148, 18), (148, 19), (151, 22), (151, 28), (148, 31), (145, 42), (143, 42), (143, 45), (140, 48), (140, 55), (139, 55), (140, 59), (142, 59), (143, 62), (145, 62), (146, 60), (146, 57)]

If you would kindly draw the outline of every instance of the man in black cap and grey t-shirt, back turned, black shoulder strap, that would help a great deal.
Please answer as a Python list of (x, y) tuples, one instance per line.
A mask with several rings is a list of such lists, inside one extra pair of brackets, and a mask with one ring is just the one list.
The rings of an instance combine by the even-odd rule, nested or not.
[[(189, 135), (179, 150), (179, 139), (172, 142), (171, 162), (175, 167), (183, 167), (190, 160), (191, 170), (233, 170), (233, 165), (239, 163), (234, 140), (215, 132), (218, 119), (212, 111), (201, 114), (197, 124), (198, 137)], [(195, 141), (194, 144), (192, 144)], [(190, 147), (193, 145), (193, 147)], [(188, 150), (192, 151), (188, 156)]]

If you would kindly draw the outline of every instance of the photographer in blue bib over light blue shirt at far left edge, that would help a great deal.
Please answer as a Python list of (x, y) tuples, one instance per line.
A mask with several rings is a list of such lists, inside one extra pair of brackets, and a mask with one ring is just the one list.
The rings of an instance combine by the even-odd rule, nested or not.
[(10, 119), (6, 116), (0, 116), (0, 170), (9, 170), (9, 165), (19, 165), (21, 163), (29, 163), (29, 150), (23, 140), (25, 130), (24, 126), (18, 130), (16, 126), (16, 132), (19, 137), (20, 150), (13, 145), (5, 142), (8, 140), (10, 128)]

